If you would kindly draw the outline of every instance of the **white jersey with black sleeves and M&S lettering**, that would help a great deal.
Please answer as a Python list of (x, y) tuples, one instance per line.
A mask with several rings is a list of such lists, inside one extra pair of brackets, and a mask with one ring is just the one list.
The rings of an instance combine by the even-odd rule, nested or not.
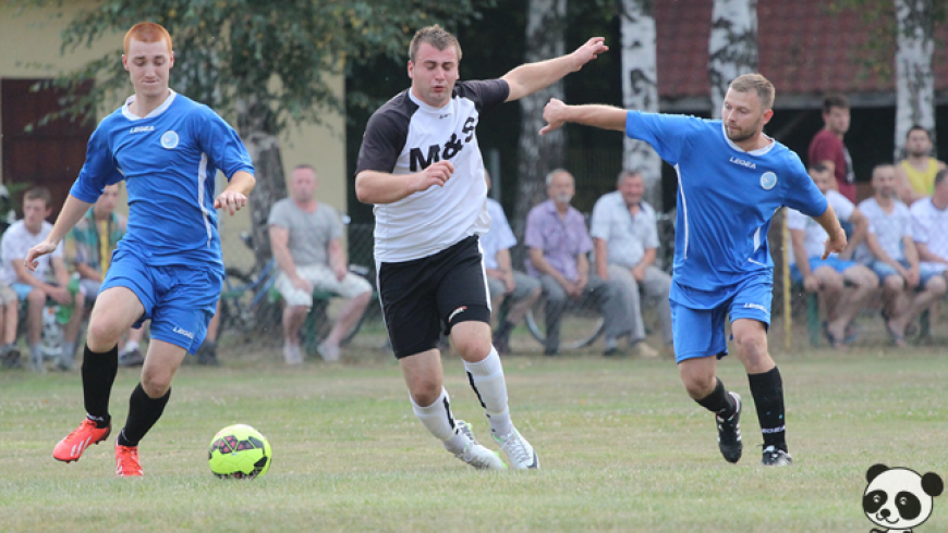
[(358, 150), (356, 175), (363, 171), (413, 174), (443, 160), (454, 165), (443, 187), (375, 206), (376, 262), (432, 256), (487, 232), (487, 186), (474, 129), (481, 114), (509, 94), (502, 79), (458, 82), (451, 101), (442, 108), (422, 102), (406, 89), (373, 113)]

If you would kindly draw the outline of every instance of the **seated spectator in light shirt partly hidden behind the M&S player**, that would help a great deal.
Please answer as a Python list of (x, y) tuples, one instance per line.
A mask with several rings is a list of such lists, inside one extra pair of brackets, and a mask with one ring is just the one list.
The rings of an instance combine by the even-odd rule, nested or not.
[[(490, 190), (490, 174), (486, 171), (484, 179), (487, 181), (487, 190)], [(497, 200), (487, 198), (487, 212), (490, 214), (490, 231), (481, 236), (481, 252), (484, 255), (490, 307), (497, 314), (505, 302), (510, 306), (494, 332), (494, 347), (499, 354), (509, 354), (510, 332), (539, 298), (539, 282), (511, 265), (510, 248), (516, 246), (516, 237), (510, 230), (503, 208)]]

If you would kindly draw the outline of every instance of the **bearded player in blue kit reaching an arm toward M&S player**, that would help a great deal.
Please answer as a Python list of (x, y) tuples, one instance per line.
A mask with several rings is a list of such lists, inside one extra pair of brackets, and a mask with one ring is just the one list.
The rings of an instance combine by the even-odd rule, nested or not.
[(715, 375), (727, 355), (730, 317), (764, 436), (765, 466), (791, 463), (785, 437), (783, 383), (767, 351), (774, 262), (770, 219), (787, 206), (813, 216), (829, 238), (824, 259), (846, 248), (846, 234), (800, 158), (764, 134), (774, 115), (774, 86), (759, 74), (731, 82), (722, 120), (625, 111), (609, 106), (544, 109), (540, 135), (566, 122), (625, 132), (652, 145), (678, 173), (671, 320), (674, 357), (688, 394), (715, 413), (718, 445), (741, 458), (741, 397)]

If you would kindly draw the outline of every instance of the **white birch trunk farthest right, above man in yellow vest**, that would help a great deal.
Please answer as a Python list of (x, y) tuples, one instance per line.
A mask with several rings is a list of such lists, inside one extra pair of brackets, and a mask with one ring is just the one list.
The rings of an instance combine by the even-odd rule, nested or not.
[(896, 0), (898, 48), (896, 50), (896, 152), (904, 158), (906, 135), (912, 125), (935, 137), (935, 84), (932, 53), (935, 51), (935, 0)]

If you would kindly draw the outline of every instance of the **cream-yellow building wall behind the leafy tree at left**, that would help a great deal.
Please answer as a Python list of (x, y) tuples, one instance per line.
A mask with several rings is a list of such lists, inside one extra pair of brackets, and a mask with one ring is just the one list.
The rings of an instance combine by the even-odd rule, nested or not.
[[(121, 61), (123, 33), (95, 42), (92, 48), (81, 47), (75, 51), (60, 53), (60, 33), (68, 21), (83, 8), (95, 5), (96, 2), (76, 0), (62, 2), (62, 7), (44, 10), (27, 10), (16, 15), (15, 10), (0, 5), (0, 78), (41, 78), (54, 77), (63, 71), (100, 58), (110, 50), (116, 53), (116, 61)], [(61, 16), (58, 14), (61, 13)], [(173, 37), (173, 36), (172, 36)], [(38, 67), (36, 65), (45, 65)], [(343, 79), (338, 78), (333, 86), (338, 92), (344, 90)], [(174, 88), (174, 70), (171, 70), (171, 87)], [(132, 86), (129, 85), (129, 95)], [(105, 102), (98, 110), (98, 119), (117, 109), (124, 97), (113, 102)], [(0, 115), (0, 121), (2, 121)], [(345, 211), (345, 127), (344, 117), (331, 115), (324, 117), (324, 125), (303, 124), (291, 127), (281, 136), (283, 168), (289, 174), (293, 166), (309, 163), (319, 172), (320, 201), (329, 203), (340, 212)], [(0, 147), (2, 150), (2, 147)], [(2, 182), (0, 169), (0, 182)], [(218, 176), (220, 186), (224, 183)], [(252, 195), (253, 200), (253, 195)], [(120, 203), (119, 210), (127, 213), (127, 206)], [(221, 238), (224, 260), (228, 264), (246, 266), (251, 255), (245, 252), (240, 244), (241, 232), (250, 230), (250, 211), (238, 213), (233, 219), (221, 216)]]

